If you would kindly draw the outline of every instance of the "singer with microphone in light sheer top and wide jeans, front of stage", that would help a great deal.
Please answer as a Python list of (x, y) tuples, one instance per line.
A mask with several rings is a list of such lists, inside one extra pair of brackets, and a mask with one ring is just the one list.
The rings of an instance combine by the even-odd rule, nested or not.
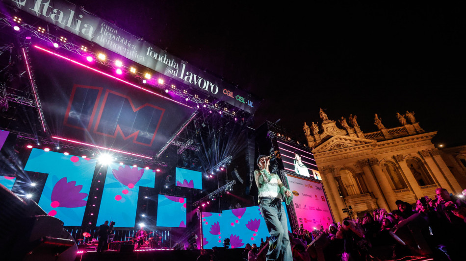
[(293, 194), (286, 189), (280, 177), (270, 173), (270, 157), (260, 155), (257, 159), (259, 170), (254, 171), (259, 189), (260, 212), (270, 234), (269, 249), (266, 260), (292, 261), (291, 245), (288, 237), (288, 223), (282, 200), (291, 203)]

